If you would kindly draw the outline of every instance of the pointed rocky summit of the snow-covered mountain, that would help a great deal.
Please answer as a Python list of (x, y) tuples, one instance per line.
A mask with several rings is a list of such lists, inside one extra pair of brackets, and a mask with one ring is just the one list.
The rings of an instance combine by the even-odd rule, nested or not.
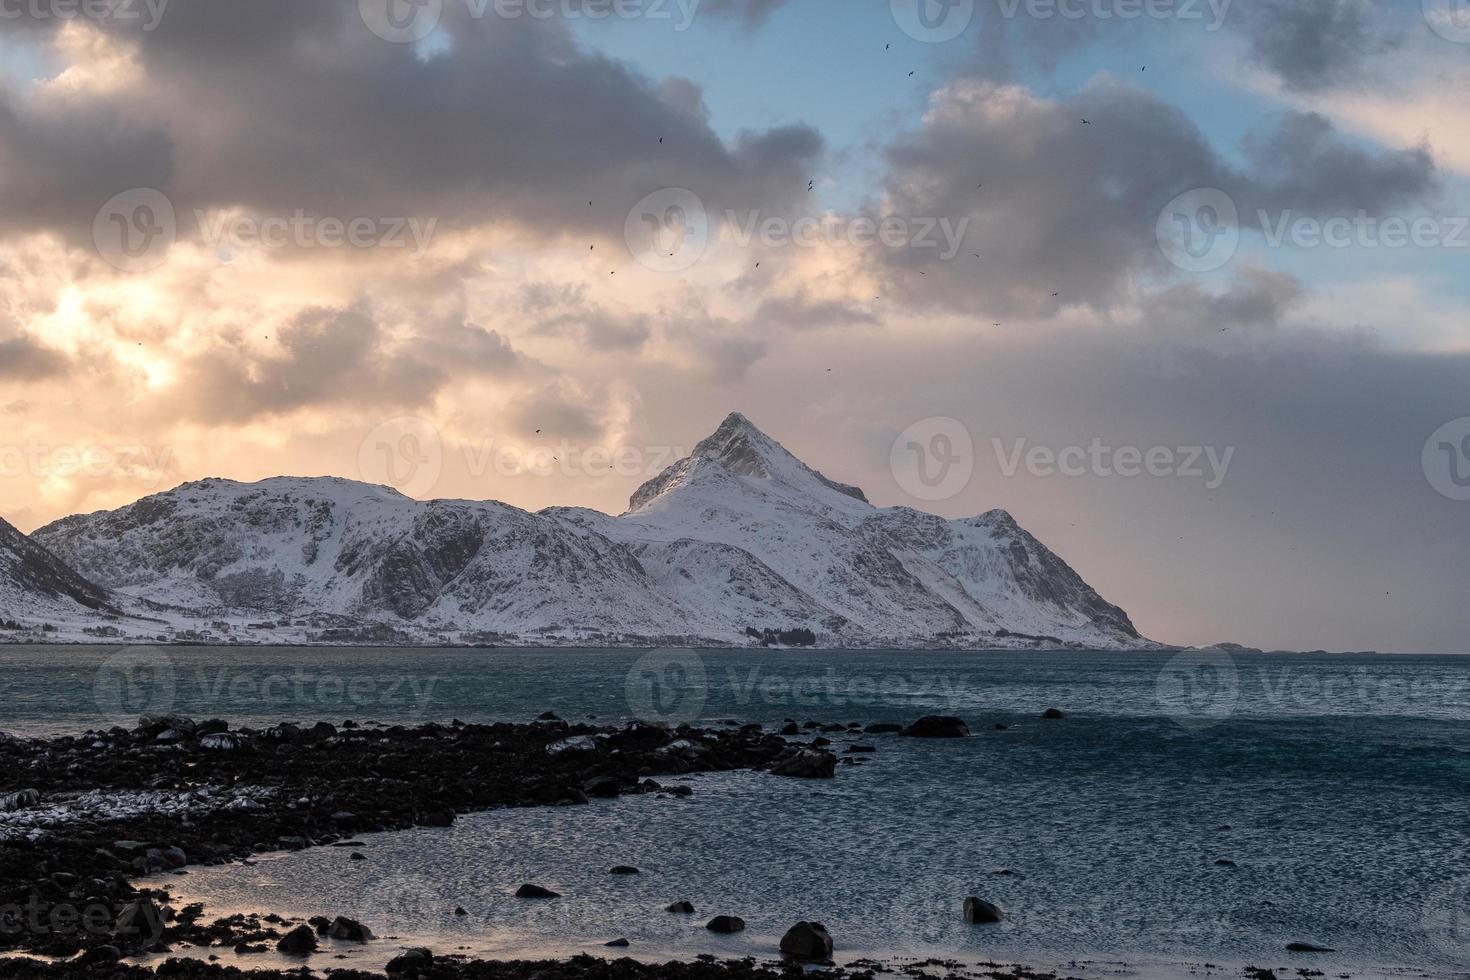
[(851, 501), (867, 504), (863, 491), (822, 476), (756, 428), (744, 414), (732, 411), (714, 432), (694, 447), (688, 457), (639, 486), (628, 501), (629, 513), (642, 510), (664, 494), (692, 483), (709, 470), (725, 478), (769, 482), (786, 492), (811, 495), (817, 501), (836, 492), (850, 498), (847, 505), (851, 505)]

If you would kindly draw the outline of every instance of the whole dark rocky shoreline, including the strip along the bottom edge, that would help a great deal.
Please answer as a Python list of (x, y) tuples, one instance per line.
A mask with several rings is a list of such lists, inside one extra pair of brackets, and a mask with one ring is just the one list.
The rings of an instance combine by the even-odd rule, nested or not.
[[(734, 723), (732, 723), (734, 724)], [(856, 727), (854, 727), (856, 726)], [(879, 730), (873, 730), (878, 727)], [(422, 724), (340, 727), (318, 723), (269, 729), (232, 729), (223, 721), (144, 718), (131, 732), (112, 729), (81, 736), (16, 739), (0, 735), (0, 768), (9, 773), (0, 790), (0, 907), (35, 909), (32, 921), (54, 921), (56, 909), (88, 914), (104, 909), (82, 930), (22, 927), (0, 930), (0, 956), (12, 954), (76, 959), (9, 961), (7, 976), (37, 980), (137, 980), (182, 977), (219, 980), (245, 976), (259, 980), (301, 977), (303, 968), (320, 973), (351, 967), (322, 951), (290, 968), (257, 973), (250, 958), (275, 956), (291, 930), (307, 923), (282, 918), (278, 909), (251, 909), (212, 918), (203, 905), (182, 905), (168, 887), (168, 874), (190, 865), (253, 862), (256, 855), (306, 848), (347, 846), (357, 835), (447, 827), (460, 814), (509, 808), (578, 805), (591, 798), (642, 795), (679, 805), (700, 792), (684, 776), (735, 770), (769, 771), (803, 758), (829, 761), (788, 774), (829, 777), (838, 764), (860, 765), (861, 758), (826, 751), (823, 732), (841, 739), (892, 735), (897, 726), (857, 726), (806, 721), (781, 733), (747, 724), (731, 729), (666, 729), (631, 723), (606, 726), (541, 717), (532, 723)], [(881, 742), (879, 742), (881, 745)], [(836, 748), (836, 746), (833, 746)], [(12, 801), (18, 790), (35, 796)], [(664, 805), (653, 804), (650, 805)], [(332, 930), (334, 909), (320, 909), (309, 930)], [(366, 924), (366, 923), (365, 923)], [(376, 940), (366, 959), (369, 973), (351, 970), (340, 977), (384, 976), (379, 967), (401, 954), (391, 930)], [(359, 949), (354, 946), (353, 949)], [(366, 952), (366, 948), (360, 948)], [(465, 949), (463, 946), (459, 949)], [(188, 951), (182, 961), (176, 956)], [(451, 958), (456, 951), (435, 949), (434, 968), (423, 976), (438, 980), (537, 980), (545, 977), (626, 977), (628, 980), (770, 980), (789, 977), (803, 967), (756, 967), (753, 958), (722, 965), (695, 956), (669, 964), (628, 958), (601, 965), (581, 964), (587, 956), (544, 959)], [(606, 951), (606, 955), (616, 955)], [(639, 951), (642, 955), (642, 951)], [(848, 959), (851, 951), (842, 951)], [(150, 967), (129, 964), (143, 956)], [(210, 962), (207, 958), (231, 959)], [(348, 956), (354, 959), (356, 956)], [(1060, 958), (1060, 956), (1058, 956)], [(1245, 976), (1270, 980), (1311, 968), (1311, 955), (1280, 954), (1272, 968), (1180, 964), (1182, 973), (1158, 973), (1148, 958), (1095, 956), (1073, 959), (1070, 968), (1038, 968), (1010, 962), (923, 961), (938, 974), (897, 959), (869, 958), (841, 968), (817, 970), (833, 980), (870, 980), (876, 973), (911, 973), (916, 977), (992, 977), (1030, 980), (1054, 977)], [(1276, 958), (1273, 958), (1276, 959)], [(634, 965), (622, 965), (634, 964)], [(1285, 964), (1288, 973), (1279, 973)], [(262, 964), (263, 965), (263, 964)], [(911, 965), (911, 964), (910, 964)], [(12, 970), (13, 967), (13, 970)], [(1332, 965), (1332, 976), (1449, 976), (1430, 970), (1347, 971)], [(394, 976), (404, 976), (397, 971)], [(1307, 974), (1311, 976), (1311, 974)]]

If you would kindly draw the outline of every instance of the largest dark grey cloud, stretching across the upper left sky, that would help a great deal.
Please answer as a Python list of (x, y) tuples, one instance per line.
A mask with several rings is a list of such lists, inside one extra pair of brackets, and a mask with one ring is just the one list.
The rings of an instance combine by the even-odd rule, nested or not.
[(373, 35), (344, 1), (191, 0), (150, 32), (104, 22), (147, 81), (110, 98), (10, 96), (0, 159), (19, 166), (0, 172), (0, 213), (85, 234), (112, 194), (154, 187), (181, 216), (510, 217), (620, 237), (663, 187), (776, 207), (820, 153), (807, 126), (726, 143), (692, 82), (656, 85), (562, 22), (467, 10), (445, 4), (432, 53)]

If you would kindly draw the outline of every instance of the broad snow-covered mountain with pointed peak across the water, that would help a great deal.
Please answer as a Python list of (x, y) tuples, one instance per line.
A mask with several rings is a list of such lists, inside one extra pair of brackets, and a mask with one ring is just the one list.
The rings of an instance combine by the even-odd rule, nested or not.
[(741, 414), (620, 517), (210, 479), (32, 538), (150, 639), (1152, 646), (1004, 511), (876, 508)]

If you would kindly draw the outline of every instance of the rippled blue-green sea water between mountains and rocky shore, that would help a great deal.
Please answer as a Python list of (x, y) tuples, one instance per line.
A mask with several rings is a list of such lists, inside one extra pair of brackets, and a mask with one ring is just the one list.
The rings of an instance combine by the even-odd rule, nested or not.
[[(240, 723), (947, 713), (973, 732), (866, 738), (878, 754), (831, 782), (698, 776), (686, 801), (469, 814), (365, 837), (368, 861), (322, 848), (169, 879), (220, 914), (350, 914), (495, 955), (619, 936), (635, 955), (767, 955), (814, 918), (839, 959), (1470, 970), (1470, 657), (9, 648), (0, 692), (0, 729), (25, 733), (138, 708)], [(1067, 717), (1042, 721), (1048, 707)], [(563, 898), (510, 898), (522, 882)], [(964, 926), (966, 895), (1005, 920)], [(676, 899), (698, 914), (664, 912)], [(707, 933), (719, 912), (748, 930)], [(1291, 955), (1292, 940), (1338, 952)]]

